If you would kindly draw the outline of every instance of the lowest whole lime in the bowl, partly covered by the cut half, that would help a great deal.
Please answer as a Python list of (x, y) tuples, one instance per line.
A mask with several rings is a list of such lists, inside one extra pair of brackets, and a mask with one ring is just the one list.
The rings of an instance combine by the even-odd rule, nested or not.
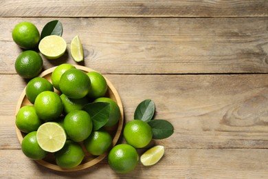
[(67, 140), (63, 149), (55, 153), (56, 164), (62, 168), (70, 169), (78, 166), (85, 154), (82, 147), (74, 141)]

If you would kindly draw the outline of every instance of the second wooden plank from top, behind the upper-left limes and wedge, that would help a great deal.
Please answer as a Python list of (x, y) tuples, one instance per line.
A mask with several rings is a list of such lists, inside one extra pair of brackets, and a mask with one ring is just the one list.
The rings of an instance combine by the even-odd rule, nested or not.
[[(12, 41), (12, 28), (31, 21), (41, 31), (52, 19), (0, 18), (0, 74), (15, 74), (21, 52)], [(107, 74), (226, 74), (267, 73), (267, 18), (212, 19), (59, 19), (67, 53), (44, 59), (45, 68), (72, 63), (71, 39), (78, 34), (85, 65)], [(12, 23), (10, 23), (12, 21)], [(9, 47), (9, 48), (7, 48)]]

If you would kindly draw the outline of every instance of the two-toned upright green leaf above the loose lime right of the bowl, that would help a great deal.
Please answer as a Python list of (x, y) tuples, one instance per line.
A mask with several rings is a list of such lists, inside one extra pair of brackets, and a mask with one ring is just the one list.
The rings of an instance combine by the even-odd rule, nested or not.
[(155, 114), (155, 103), (152, 100), (146, 99), (137, 105), (134, 113), (134, 119), (143, 120), (148, 123)]

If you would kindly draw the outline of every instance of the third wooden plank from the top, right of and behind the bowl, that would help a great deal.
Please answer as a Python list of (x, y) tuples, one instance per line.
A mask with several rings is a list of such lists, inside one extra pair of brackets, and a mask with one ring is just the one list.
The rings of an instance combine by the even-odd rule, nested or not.
[[(5, 136), (0, 149), (19, 149), (14, 112), (25, 82), (17, 75), (0, 76), (6, 91), (0, 96), (0, 136)], [(118, 89), (126, 121), (133, 120), (135, 108), (144, 99), (155, 101), (155, 118), (175, 127), (175, 134), (159, 144), (203, 149), (268, 146), (268, 74), (104, 76)]]

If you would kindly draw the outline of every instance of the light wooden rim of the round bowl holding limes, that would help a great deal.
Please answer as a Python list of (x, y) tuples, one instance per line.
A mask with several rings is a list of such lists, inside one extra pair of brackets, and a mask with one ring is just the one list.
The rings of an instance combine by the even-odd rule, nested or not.
[[(93, 69), (91, 69), (89, 67), (85, 67), (85, 66), (82, 66), (82, 65), (74, 65), (74, 66), (77, 69), (82, 70), (84, 72), (97, 72), (96, 70), (93, 70)], [(47, 76), (49, 74), (51, 75), (56, 67), (57, 66), (51, 67), (51, 68), (43, 71), (38, 76), (43, 77), (43, 76)], [(107, 81), (107, 85), (108, 85), (107, 91), (111, 91), (113, 93), (113, 96), (115, 98), (115, 103), (118, 104), (118, 107), (120, 108), (120, 114), (121, 114), (120, 119), (118, 121), (118, 125), (117, 125), (118, 127), (117, 127), (115, 136), (113, 137), (113, 141), (112, 141), (112, 147), (113, 147), (118, 142), (118, 140), (119, 140), (119, 138), (121, 136), (121, 133), (122, 133), (122, 127), (124, 125), (124, 111), (123, 111), (123, 105), (122, 105), (121, 98), (120, 98), (120, 96), (118, 94), (118, 91), (115, 89), (115, 87), (113, 86), (111, 81), (109, 81), (108, 78), (106, 78), (105, 76), (104, 76), (104, 78)], [(26, 89), (26, 87), (24, 87), (23, 92), (19, 96), (18, 103), (16, 104), (15, 116), (19, 112), (19, 109), (21, 109), (21, 107), (23, 106), (23, 101), (27, 100), (26, 94), (25, 94), (25, 89)], [(15, 130), (16, 130), (16, 136), (19, 139), (19, 143), (21, 143), (22, 140), (23, 140), (22, 132), (19, 130), (18, 127), (16, 127), (16, 125), (15, 125)], [(71, 169), (63, 169), (63, 168), (59, 167), (58, 165), (55, 165), (55, 164), (53, 164), (51, 162), (47, 162), (45, 160), (34, 160), (34, 161), (36, 161), (40, 165), (43, 165), (44, 167), (47, 167), (49, 169), (54, 169), (56, 171), (79, 171), (79, 170), (82, 170), (82, 169), (87, 169), (87, 168), (89, 168), (89, 167), (91, 167), (93, 165), (96, 165), (98, 162), (102, 161), (107, 155), (108, 155), (108, 153), (105, 152), (104, 154), (102, 154), (100, 156), (96, 156), (96, 158), (93, 158), (93, 160), (89, 160), (88, 162), (82, 163), (82, 164), (78, 165), (77, 167), (74, 167), (74, 168), (71, 168)]]

